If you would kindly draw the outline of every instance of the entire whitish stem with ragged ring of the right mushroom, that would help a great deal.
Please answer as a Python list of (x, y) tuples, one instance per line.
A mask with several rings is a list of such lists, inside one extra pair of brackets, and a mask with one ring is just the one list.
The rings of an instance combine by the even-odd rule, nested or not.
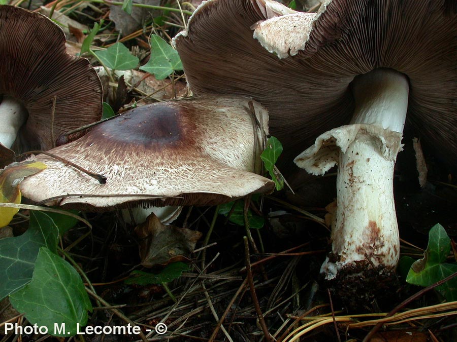
[(341, 270), (390, 272), (399, 259), (393, 176), (402, 146), (408, 80), (397, 71), (376, 69), (352, 85), (351, 125), (320, 135), (296, 159), (313, 174), (323, 174), (338, 163), (332, 253), (321, 268), (328, 280)]

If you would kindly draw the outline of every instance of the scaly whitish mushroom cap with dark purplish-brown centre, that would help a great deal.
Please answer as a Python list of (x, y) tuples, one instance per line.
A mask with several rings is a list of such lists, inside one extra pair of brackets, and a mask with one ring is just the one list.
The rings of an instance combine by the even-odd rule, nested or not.
[(38, 155), (35, 160), (47, 168), (25, 179), (21, 192), (48, 205), (99, 211), (138, 204), (213, 205), (271, 192), (274, 183), (254, 173), (261, 170), (268, 113), (252, 101), (255, 119), (250, 101), (202, 96), (129, 110), (49, 151), (103, 174), (106, 184)]

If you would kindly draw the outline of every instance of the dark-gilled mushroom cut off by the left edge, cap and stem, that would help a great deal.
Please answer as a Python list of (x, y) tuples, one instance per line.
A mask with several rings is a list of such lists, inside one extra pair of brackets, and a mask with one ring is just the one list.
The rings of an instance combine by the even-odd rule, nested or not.
[[(100, 120), (102, 85), (85, 58), (67, 54), (47, 17), (0, 6), (0, 150), (47, 150), (60, 134)], [(1, 166), (0, 166), (1, 167)]]

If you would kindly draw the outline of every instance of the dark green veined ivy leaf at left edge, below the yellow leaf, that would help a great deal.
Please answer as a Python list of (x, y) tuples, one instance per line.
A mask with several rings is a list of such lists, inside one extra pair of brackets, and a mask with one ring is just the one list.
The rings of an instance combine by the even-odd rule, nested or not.
[(31, 280), (40, 247), (55, 251), (57, 238), (58, 229), (51, 217), (47, 213), (31, 211), (24, 234), (0, 240), (0, 299)]

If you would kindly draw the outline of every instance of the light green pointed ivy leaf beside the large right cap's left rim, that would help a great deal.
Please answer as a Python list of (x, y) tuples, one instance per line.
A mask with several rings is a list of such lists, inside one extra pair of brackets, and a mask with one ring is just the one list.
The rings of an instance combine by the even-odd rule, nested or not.
[(155, 74), (157, 80), (163, 80), (173, 71), (182, 70), (182, 63), (175, 49), (157, 34), (152, 34), (151, 57), (140, 69)]

